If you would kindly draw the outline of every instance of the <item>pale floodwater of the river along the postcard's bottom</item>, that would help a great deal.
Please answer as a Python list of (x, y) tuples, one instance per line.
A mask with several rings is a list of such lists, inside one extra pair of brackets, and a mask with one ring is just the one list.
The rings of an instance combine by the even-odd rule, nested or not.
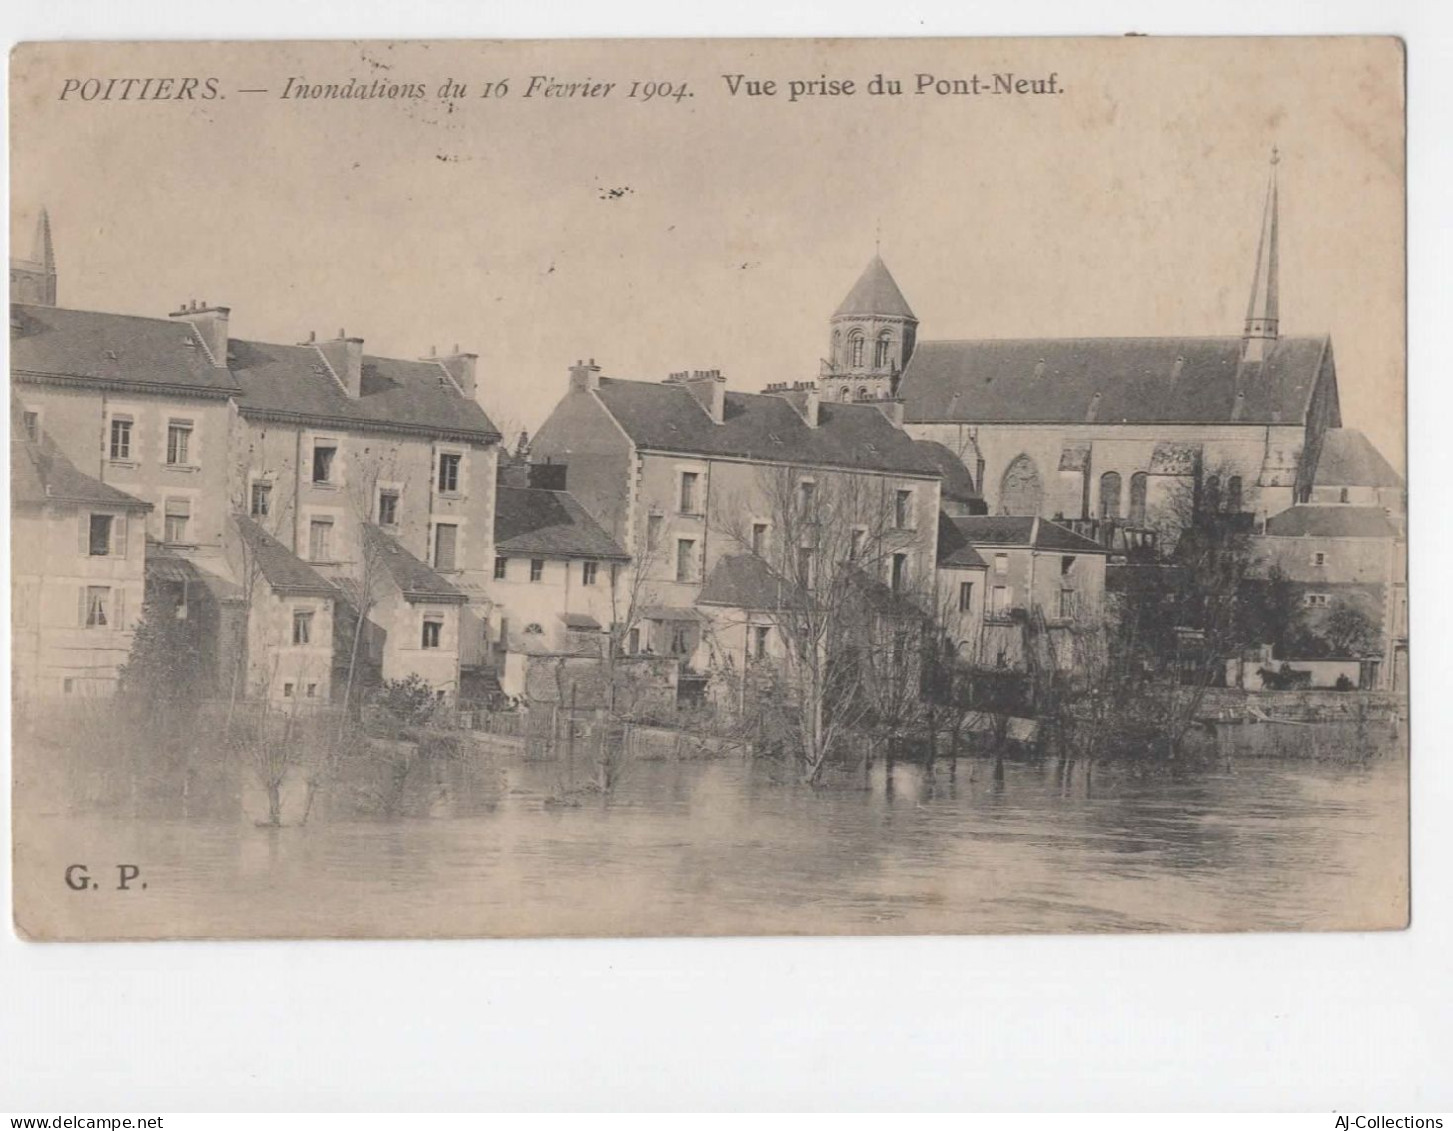
[[(445, 816), (42, 816), (17, 865), (61, 933), (122, 938), (1344, 929), (1405, 916), (1405, 778), (960, 760), (808, 789), (729, 759), (634, 763), (602, 798), (501, 757), (490, 788), (437, 786)], [(100, 890), (64, 887), (77, 861)], [(115, 862), (145, 890), (110, 890)]]

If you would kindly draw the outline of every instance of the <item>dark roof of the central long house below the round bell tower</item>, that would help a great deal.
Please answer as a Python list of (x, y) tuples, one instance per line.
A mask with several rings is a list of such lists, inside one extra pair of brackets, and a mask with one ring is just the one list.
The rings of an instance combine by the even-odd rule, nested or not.
[(728, 391), (719, 424), (681, 385), (602, 378), (599, 395), (635, 445), (649, 451), (939, 474), (907, 433), (870, 404), (822, 403), (818, 426), (808, 427), (785, 397), (758, 393)]

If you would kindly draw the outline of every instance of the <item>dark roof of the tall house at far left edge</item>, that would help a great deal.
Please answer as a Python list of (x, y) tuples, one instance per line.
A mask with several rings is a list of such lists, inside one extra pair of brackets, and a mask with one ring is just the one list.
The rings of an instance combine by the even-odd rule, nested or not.
[(10, 369), (193, 394), (237, 393), (190, 323), (62, 307), (10, 305)]

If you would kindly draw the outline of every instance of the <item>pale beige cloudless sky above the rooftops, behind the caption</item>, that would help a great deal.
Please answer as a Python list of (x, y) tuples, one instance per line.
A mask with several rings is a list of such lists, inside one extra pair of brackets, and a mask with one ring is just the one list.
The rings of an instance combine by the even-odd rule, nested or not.
[[(742, 390), (815, 377), (875, 247), (921, 339), (1237, 334), (1276, 145), (1282, 331), (1331, 334), (1344, 424), (1402, 468), (1401, 64), (1353, 38), (31, 47), (12, 231), (26, 249), (49, 209), (67, 307), (206, 299), (237, 337), (459, 345), (513, 432), (578, 358)], [(1061, 93), (914, 93), (1005, 73)], [(904, 93), (869, 94), (876, 74)], [(222, 97), (60, 97), (116, 76)], [(615, 86), (525, 97), (530, 76)], [(427, 97), (283, 99), (289, 79)], [(856, 92), (789, 100), (818, 79)], [(439, 99), (446, 80), (466, 94)]]

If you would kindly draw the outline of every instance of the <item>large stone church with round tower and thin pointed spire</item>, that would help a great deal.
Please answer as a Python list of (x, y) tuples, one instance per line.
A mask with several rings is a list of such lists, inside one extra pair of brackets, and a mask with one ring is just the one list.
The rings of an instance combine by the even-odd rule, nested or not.
[(918, 340), (875, 254), (831, 317), (822, 398), (902, 401), (994, 515), (1135, 529), (1187, 494), (1258, 523), (1305, 502), (1341, 427), (1337, 365), (1329, 336), (1280, 330), (1276, 166), (1238, 336)]

